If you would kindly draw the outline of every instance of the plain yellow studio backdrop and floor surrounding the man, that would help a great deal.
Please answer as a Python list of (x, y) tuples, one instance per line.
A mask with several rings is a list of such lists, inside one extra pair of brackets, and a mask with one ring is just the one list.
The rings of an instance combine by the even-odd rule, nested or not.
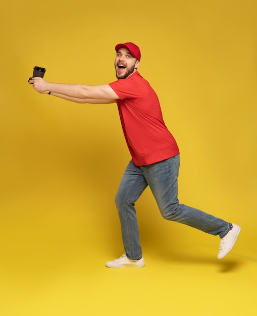
[[(256, 310), (256, 2), (5, 1), (0, 13), (0, 314), (252, 315)], [(114, 196), (130, 160), (115, 104), (70, 103), (27, 84), (114, 81), (114, 46), (141, 48), (179, 144), (180, 201), (242, 227), (219, 238), (137, 202), (143, 269), (123, 253)]]

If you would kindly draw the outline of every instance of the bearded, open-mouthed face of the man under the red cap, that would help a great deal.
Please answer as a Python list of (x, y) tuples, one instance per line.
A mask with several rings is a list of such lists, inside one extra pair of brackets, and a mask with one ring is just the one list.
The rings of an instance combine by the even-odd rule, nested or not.
[(139, 62), (131, 55), (131, 52), (124, 47), (117, 51), (114, 66), (117, 79), (125, 79), (137, 70)]

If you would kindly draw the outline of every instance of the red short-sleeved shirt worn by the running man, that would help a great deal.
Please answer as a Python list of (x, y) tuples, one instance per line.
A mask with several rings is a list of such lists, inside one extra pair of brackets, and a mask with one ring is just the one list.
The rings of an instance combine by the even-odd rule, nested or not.
[(160, 102), (149, 83), (135, 72), (109, 84), (117, 100), (123, 133), (136, 166), (146, 166), (179, 153), (165, 126)]

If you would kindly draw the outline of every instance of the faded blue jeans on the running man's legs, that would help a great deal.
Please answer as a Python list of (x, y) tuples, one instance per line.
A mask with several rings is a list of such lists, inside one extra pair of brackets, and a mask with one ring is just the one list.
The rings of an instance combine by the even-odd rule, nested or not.
[(132, 161), (128, 164), (115, 202), (121, 222), (125, 252), (130, 259), (142, 257), (135, 201), (148, 185), (166, 220), (182, 223), (212, 235), (219, 235), (221, 238), (228, 233), (230, 223), (179, 203), (178, 171), (179, 155), (149, 166), (136, 166)]

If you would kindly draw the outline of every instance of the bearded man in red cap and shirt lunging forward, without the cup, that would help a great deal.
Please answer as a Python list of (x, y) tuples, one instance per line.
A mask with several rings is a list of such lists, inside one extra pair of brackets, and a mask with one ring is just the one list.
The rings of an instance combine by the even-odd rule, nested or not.
[(109, 268), (144, 267), (139, 241), (135, 201), (149, 185), (162, 216), (221, 238), (218, 258), (234, 246), (241, 228), (236, 224), (179, 203), (179, 149), (163, 121), (158, 97), (137, 68), (141, 58), (137, 45), (128, 42), (115, 47), (116, 77), (106, 85), (59, 84), (32, 78), (30, 84), (48, 93), (79, 103), (117, 102), (120, 120), (132, 160), (116, 194), (125, 254), (108, 261)]

